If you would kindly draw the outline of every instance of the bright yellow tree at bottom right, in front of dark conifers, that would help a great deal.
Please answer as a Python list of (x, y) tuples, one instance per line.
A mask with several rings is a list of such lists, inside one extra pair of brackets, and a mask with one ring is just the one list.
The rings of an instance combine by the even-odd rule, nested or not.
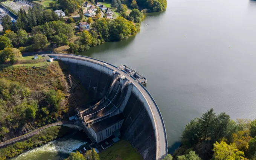
[(213, 159), (214, 160), (243, 160), (245, 159), (244, 152), (239, 151), (235, 143), (228, 145), (225, 141), (216, 142), (213, 144)]

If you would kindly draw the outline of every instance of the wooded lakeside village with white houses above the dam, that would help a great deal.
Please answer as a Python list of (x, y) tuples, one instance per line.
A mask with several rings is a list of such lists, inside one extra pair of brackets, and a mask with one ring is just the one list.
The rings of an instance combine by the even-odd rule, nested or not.
[(12, 47), (21, 53), (84, 52), (136, 34), (146, 13), (120, 0), (19, 0), (0, 2), (0, 8), (0, 56)]

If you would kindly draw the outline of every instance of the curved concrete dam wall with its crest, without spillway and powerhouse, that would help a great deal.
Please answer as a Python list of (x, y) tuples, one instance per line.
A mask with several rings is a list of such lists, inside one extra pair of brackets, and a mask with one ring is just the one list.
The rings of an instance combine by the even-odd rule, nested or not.
[(160, 111), (149, 92), (134, 78), (117, 67), (85, 56), (50, 54), (66, 64), (70, 73), (79, 79), (93, 99), (104, 98), (110, 90), (116, 73), (123, 75), (128, 86), (119, 110), (125, 117), (121, 136), (142, 154), (144, 160), (160, 160), (167, 154), (167, 137)]

